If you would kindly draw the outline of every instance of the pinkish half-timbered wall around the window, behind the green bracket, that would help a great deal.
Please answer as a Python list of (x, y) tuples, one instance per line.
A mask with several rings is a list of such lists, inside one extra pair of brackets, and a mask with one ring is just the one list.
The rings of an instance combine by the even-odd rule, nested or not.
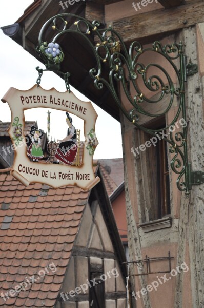
[[(189, 76), (186, 83), (186, 105), (188, 122), (188, 149), (189, 160), (192, 162), (193, 171), (203, 170), (203, 46), (204, 26), (196, 26), (181, 30), (173, 36), (167, 36), (163, 42), (177, 42), (181, 40), (185, 45), (187, 61), (199, 65), (199, 72)], [(150, 62), (154, 62), (152, 59)], [(161, 62), (161, 66), (164, 64)], [(121, 92), (121, 100), (127, 107), (129, 103)], [(177, 110), (177, 103), (166, 117), (166, 123), (173, 118)], [(147, 120), (147, 119), (145, 119)], [(145, 122), (144, 122), (145, 123)], [(148, 257), (167, 257), (170, 251), (174, 259), (171, 260), (171, 269), (177, 271), (177, 266), (183, 262), (188, 267), (186, 271), (177, 271), (173, 277), (166, 273), (170, 279), (159, 284), (157, 290), (150, 292), (146, 289), (152, 282), (164, 274), (151, 274), (147, 276), (131, 277), (132, 291), (139, 292), (136, 298), (132, 296), (132, 307), (156, 308), (156, 307), (202, 307), (203, 305), (203, 190), (204, 185), (193, 186), (190, 199), (181, 194), (176, 187), (177, 176), (170, 170), (170, 202), (171, 214), (162, 219), (149, 221), (147, 211), (152, 204), (149, 192), (152, 187), (147, 178), (147, 170), (150, 168), (147, 156), (140, 151), (135, 157), (131, 148), (142, 143), (142, 132), (136, 128), (121, 114), (121, 128), (123, 133), (123, 148), (125, 162), (125, 191), (126, 213), (128, 219), (128, 240), (130, 261)], [(142, 163), (141, 163), (142, 161)], [(149, 199), (148, 199), (149, 198)], [(152, 194), (154, 198), (154, 193)], [(145, 223), (144, 223), (145, 221)], [(168, 271), (168, 261), (151, 263), (151, 271)], [(130, 265), (130, 274), (142, 274), (146, 272), (146, 266)], [(163, 281), (161, 279), (161, 281)], [(141, 294), (143, 292), (144, 294)]]

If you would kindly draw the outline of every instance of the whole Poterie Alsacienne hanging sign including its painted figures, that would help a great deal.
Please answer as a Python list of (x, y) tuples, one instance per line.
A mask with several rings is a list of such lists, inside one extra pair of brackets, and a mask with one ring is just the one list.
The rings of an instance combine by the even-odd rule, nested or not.
[[(39, 85), (21, 91), (10, 88), (2, 99), (11, 110), (11, 125), (8, 129), (15, 150), (11, 175), (23, 185), (42, 183), (58, 188), (74, 185), (90, 190), (99, 181), (93, 170), (93, 153), (98, 144), (95, 136), (97, 113), (91, 102), (79, 100), (72, 92), (45, 90)], [(50, 111), (48, 111), (47, 157), (42, 140), (45, 132), (32, 125), (29, 131), (30, 144), (26, 142), (24, 111), (33, 108), (52, 108), (64, 111), (63, 121), (67, 131), (62, 140), (50, 141)], [(80, 140), (80, 130), (75, 127), (72, 114), (84, 120), (85, 141)], [(60, 119), (61, 121), (61, 119)], [(60, 125), (59, 121), (59, 125)]]

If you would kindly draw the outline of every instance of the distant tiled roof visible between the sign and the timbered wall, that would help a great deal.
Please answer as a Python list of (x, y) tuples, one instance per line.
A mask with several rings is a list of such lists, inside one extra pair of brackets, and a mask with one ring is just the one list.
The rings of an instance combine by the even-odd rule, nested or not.
[(124, 181), (123, 158), (99, 159), (98, 162), (103, 165), (117, 186)]

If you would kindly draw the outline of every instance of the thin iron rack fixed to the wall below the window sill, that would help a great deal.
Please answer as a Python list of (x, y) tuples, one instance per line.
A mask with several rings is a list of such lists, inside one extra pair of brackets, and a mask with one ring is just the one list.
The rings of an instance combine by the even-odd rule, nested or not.
[[(142, 263), (146, 263), (146, 272), (145, 273), (140, 273), (140, 274), (129, 274), (128, 276), (145, 276), (149, 274), (161, 274), (161, 273), (170, 273), (171, 272), (171, 259), (174, 259), (174, 257), (171, 257), (170, 251), (168, 252), (168, 257), (154, 257), (154, 258), (149, 258), (146, 255), (145, 259), (142, 260), (137, 260), (137, 261), (130, 261), (130, 262), (124, 262), (123, 264), (137, 264), (139, 266)], [(169, 270), (168, 271), (157, 271), (157, 272), (152, 272), (150, 263), (155, 262), (155, 261), (164, 261), (168, 260), (169, 261)], [(143, 267), (143, 266), (142, 266)]]

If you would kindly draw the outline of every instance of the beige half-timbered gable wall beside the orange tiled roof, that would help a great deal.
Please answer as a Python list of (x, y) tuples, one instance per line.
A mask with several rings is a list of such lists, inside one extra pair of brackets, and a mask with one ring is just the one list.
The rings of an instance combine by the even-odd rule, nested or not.
[[(116, 271), (112, 274), (114, 268)], [(62, 292), (69, 293), (76, 287), (87, 284), (87, 281), (91, 282), (93, 278), (98, 281), (103, 274), (107, 275), (107, 279), (100, 282), (101, 285), (104, 284), (101, 289), (97, 290), (100, 287), (100, 284), (97, 284), (92, 288), (89, 287), (85, 294), (81, 292), (74, 297), (68, 295), (69, 299), (65, 296), (64, 307), (89, 308), (93, 299), (93, 307), (100, 307), (104, 300), (105, 306), (101, 305), (101, 308), (126, 308), (126, 285), (100, 207), (94, 201), (91, 208), (87, 204), (83, 214)], [(98, 301), (98, 305), (95, 300)], [(57, 308), (59, 307), (58, 303)]]

